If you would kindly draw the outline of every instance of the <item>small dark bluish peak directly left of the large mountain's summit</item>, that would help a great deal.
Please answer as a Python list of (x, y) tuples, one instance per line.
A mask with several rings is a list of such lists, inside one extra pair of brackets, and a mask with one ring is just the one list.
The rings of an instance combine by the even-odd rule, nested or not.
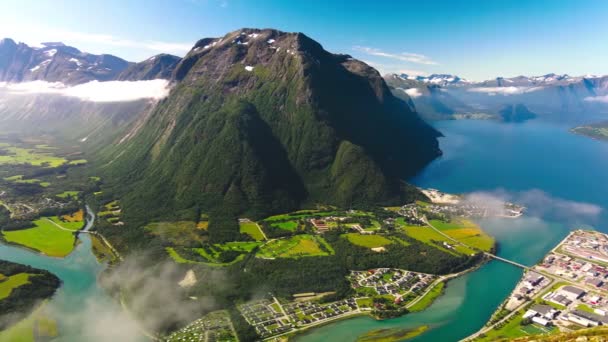
[(181, 60), (180, 57), (160, 54), (140, 63), (131, 64), (118, 75), (119, 81), (142, 81), (158, 78), (170, 79), (173, 70)]

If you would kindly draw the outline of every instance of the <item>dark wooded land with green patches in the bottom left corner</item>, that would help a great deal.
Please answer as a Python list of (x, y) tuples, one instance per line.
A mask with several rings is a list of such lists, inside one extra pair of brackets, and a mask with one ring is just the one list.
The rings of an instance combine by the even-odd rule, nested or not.
[(48, 271), (0, 260), (0, 340), (55, 337), (55, 322), (41, 311), (60, 285)]

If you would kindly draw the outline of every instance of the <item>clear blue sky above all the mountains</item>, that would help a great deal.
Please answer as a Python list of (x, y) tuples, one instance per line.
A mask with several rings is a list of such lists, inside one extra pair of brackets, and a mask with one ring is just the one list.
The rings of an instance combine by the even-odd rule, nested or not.
[(242, 27), (304, 32), (381, 72), (608, 74), (608, 1), (6, 0), (0, 36), (138, 61)]

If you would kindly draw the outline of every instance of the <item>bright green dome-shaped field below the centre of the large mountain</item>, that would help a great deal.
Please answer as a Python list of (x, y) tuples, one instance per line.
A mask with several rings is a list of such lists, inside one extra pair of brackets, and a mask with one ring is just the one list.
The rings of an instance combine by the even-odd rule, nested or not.
[(322, 237), (304, 234), (269, 242), (260, 248), (257, 255), (263, 258), (298, 258), (333, 253), (331, 246)]

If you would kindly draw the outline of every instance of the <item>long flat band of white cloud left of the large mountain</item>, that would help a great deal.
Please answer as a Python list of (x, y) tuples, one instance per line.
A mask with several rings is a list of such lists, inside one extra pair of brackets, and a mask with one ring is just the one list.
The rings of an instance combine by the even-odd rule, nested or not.
[(51, 94), (75, 97), (90, 102), (128, 102), (141, 99), (162, 99), (169, 94), (169, 81), (91, 81), (75, 86), (61, 82), (33, 81), (0, 83), (0, 89), (15, 95)]

